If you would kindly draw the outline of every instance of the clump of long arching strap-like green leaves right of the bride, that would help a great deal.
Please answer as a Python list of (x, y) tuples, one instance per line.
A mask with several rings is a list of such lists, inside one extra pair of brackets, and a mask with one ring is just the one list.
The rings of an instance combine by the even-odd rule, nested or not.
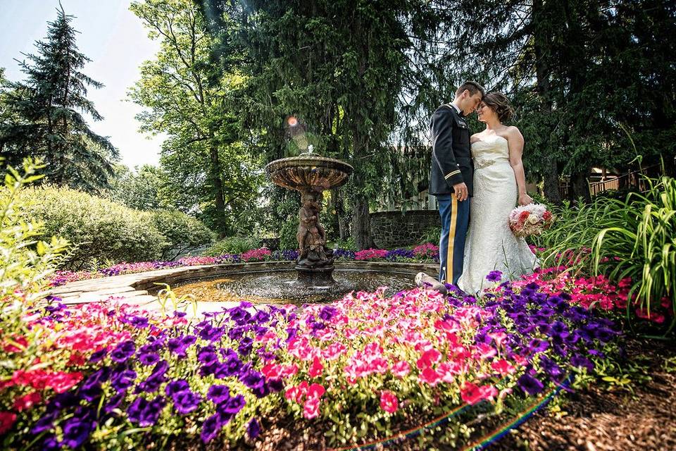
[[(634, 309), (658, 312), (663, 299), (676, 307), (676, 180), (649, 181), (644, 194), (596, 197), (591, 204), (564, 202), (553, 209), (554, 225), (539, 237), (544, 266), (569, 266), (582, 275), (602, 273), (615, 283), (631, 279), (627, 319)], [(663, 332), (670, 333), (675, 322)]]

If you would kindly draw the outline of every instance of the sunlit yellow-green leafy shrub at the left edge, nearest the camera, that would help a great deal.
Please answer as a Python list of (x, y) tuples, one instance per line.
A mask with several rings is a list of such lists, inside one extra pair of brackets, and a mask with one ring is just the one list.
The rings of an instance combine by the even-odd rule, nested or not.
[[(5, 320), (5, 303), (32, 304), (45, 295), (46, 278), (61, 260), (68, 242), (51, 237), (39, 240), (44, 228), (39, 221), (25, 221), (18, 198), (25, 185), (39, 180), (38, 166), (31, 160), (23, 164), (23, 173), (8, 167), (4, 186), (0, 188), (0, 302)], [(11, 307), (10, 309), (13, 309)], [(20, 319), (17, 314), (14, 320)], [(3, 323), (3, 334), (8, 333)]]

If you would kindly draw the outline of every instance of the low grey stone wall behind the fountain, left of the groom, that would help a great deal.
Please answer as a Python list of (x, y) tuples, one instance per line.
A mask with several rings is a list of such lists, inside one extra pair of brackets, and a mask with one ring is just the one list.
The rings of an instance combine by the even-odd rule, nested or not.
[(411, 210), (405, 214), (401, 211), (378, 211), (371, 214), (373, 241), (380, 249), (416, 245), (428, 228), (441, 226), (437, 210)]

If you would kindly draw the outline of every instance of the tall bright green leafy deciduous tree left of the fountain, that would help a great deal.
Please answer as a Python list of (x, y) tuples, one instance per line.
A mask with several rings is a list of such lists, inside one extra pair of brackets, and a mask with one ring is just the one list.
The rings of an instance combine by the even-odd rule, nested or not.
[(262, 181), (258, 156), (242, 142), (232, 91), (239, 73), (218, 73), (213, 37), (192, 0), (134, 1), (131, 11), (158, 39), (156, 58), (141, 66), (130, 98), (144, 107), (142, 130), (165, 133), (161, 168), (170, 177), (163, 196), (170, 206), (199, 218), (220, 236), (234, 235), (256, 202)]

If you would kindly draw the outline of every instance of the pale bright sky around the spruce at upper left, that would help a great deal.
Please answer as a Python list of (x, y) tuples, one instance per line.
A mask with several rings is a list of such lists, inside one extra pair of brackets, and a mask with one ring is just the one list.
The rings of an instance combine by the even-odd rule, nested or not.
[[(110, 137), (120, 152), (122, 163), (133, 168), (156, 164), (163, 136), (139, 132), (134, 115), (140, 106), (127, 101), (127, 90), (139, 80), (139, 66), (154, 58), (159, 49), (141, 20), (129, 11), (130, 0), (61, 0), (70, 23), (79, 31), (77, 47), (92, 61), (82, 70), (105, 85), (89, 89), (103, 121), (89, 125), (99, 135)], [(35, 41), (46, 37), (47, 22), (56, 19), (58, 0), (0, 0), (0, 67), (9, 80), (23, 80), (15, 60), (21, 53), (35, 53)]]

